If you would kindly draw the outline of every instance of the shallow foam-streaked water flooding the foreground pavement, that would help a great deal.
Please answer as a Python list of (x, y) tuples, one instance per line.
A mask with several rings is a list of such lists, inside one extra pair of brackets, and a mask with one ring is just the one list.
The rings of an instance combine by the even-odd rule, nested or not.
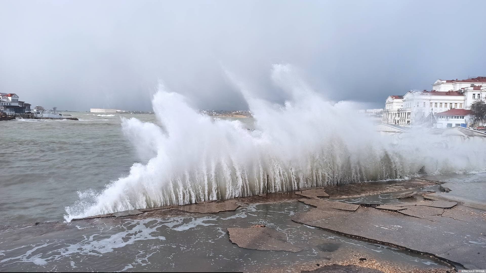
[[(355, 253), (393, 261), (402, 268), (447, 266), (434, 257), (292, 222), (293, 216), (310, 209), (289, 201), (218, 214), (179, 211), (165, 218), (99, 218), (6, 228), (0, 230), (0, 271), (300, 272), (303, 263), (338, 261)], [(260, 251), (229, 240), (227, 228), (255, 224), (264, 224), (306, 249)]]

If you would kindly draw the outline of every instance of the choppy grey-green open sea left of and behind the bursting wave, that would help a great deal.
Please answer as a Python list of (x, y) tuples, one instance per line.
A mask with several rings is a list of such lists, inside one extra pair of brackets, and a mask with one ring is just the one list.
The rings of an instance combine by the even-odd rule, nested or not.
[[(0, 122), (1, 225), (64, 221), (78, 191), (102, 190), (141, 162), (123, 136), (121, 117), (156, 122), (155, 115), (63, 114), (79, 120)], [(248, 118), (224, 119), (253, 125)]]

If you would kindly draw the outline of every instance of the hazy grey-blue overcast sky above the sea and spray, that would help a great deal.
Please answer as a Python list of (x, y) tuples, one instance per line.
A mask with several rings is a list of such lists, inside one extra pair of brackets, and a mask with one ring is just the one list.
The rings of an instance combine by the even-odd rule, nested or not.
[(59, 109), (150, 110), (157, 80), (246, 109), (223, 68), (285, 98), (290, 63), (331, 100), (371, 102), (486, 76), (486, 1), (0, 1), (0, 92)]

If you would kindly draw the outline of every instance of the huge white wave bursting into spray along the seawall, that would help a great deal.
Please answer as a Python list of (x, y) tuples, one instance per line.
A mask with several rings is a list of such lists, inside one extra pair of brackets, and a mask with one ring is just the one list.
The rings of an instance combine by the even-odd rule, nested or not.
[(276, 65), (276, 85), (290, 99), (276, 105), (243, 91), (256, 130), (198, 114), (163, 86), (153, 99), (159, 124), (122, 119), (123, 131), (147, 164), (101, 192), (80, 193), (67, 221), (128, 209), (183, 205), (299, 188), (403, 178), (427, 172), (479, 171), (484, 144), (444, 145), (417, 131), (380, 136), (350, 102), (331, 103), (289, 66)]

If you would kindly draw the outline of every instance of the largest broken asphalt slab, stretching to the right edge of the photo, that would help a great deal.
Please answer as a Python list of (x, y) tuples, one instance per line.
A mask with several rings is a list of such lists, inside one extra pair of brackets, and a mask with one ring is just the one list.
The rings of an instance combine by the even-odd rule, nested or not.
[[(469, 217), (469, 214), (464, 213), (465, 208), (454, 206), (445, 211), (455, 211), (456, 214)], [(352, 212), (311, 209), (296, 214), (292, 220), (347, 236), (434, 255), (466, 268), (486, 268), (486, 251), (483, 247), (486, 238), (481, 235), (485, 230), (484, 219), (474, 216), (477, 220), (475, 224), (471, 224), (450, 217), (428, 216), (434, 218), (435, 221), (431, 222), (405, 215), (403, 211), (384, 211), (367, 206)], [(429, 212), (435, 213), (437, 212)], [(465, 240), (482, 243), (465, 244)]]

